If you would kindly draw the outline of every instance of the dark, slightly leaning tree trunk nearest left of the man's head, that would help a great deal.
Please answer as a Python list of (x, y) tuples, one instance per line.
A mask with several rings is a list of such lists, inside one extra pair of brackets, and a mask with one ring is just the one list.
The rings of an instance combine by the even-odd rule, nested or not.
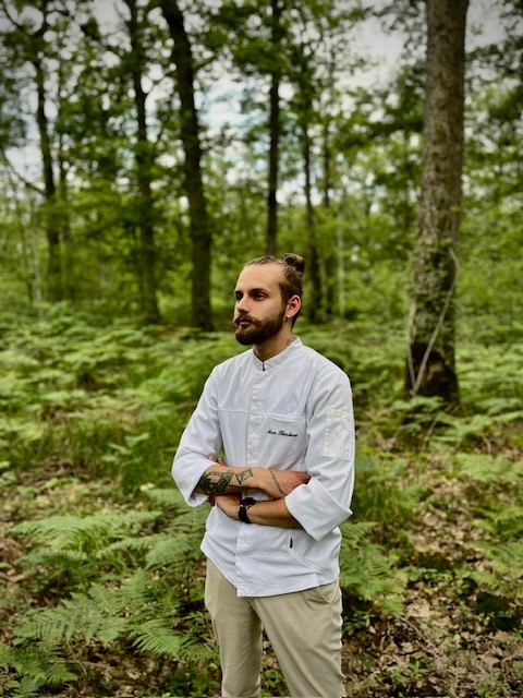
[(211, 232), (202, 179), (202, 147), (199, 125), (194, 103), (194, 71), (191, 43), (185, 32), (183, 13), (177, 0), (161, 0), (161, 11), (169, 25), (172, 62), (177, 68), (178, 92), (181, 103), (181, 140), (185, 153), (185, 184), (191, 214), (192, 239), (192, 320), (202, 329), (212, 329), (210, 306)]

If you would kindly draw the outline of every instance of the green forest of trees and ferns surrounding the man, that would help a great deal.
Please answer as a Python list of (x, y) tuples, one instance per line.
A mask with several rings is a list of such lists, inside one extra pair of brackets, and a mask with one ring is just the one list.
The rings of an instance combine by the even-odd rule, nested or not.
[(521, 2), (0, 0), (0, 696), (219, 696), (170, 467), (284, 252), (354, 395), (348, 696), (523, 695)]

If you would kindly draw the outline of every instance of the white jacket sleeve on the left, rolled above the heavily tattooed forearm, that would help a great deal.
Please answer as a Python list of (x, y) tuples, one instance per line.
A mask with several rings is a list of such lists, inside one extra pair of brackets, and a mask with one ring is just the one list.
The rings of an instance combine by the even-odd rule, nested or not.
[(190, 506), (197, 506), (208, 500), (205, 494), (195, 494), (194, 489), (205, 470), (212, 464), (208, 456), (218, 457), (222, 447), (216, 401), (216, 383), (215, 369), (208, 377), (198, 405), (182, 434), (172, 464), (172, 478)]

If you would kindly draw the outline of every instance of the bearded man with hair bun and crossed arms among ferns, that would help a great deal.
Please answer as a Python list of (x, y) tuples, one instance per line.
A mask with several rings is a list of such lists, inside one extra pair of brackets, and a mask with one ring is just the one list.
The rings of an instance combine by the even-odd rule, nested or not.
[(292, 254), (245, 265), (233, 322), (254, 348), (214, 369), (173, 462), (187, 504), (215, 505), (202, 550), (223, 698), (258, 698), (263, 628), (292, 696), (345, 696), (338, 527), (351, 515), (352, 396), (292, 334), (303, 270)]

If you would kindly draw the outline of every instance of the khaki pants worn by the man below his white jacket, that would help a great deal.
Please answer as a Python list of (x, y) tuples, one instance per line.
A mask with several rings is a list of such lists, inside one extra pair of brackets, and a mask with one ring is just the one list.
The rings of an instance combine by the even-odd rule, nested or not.
[(222, 698), (259, 698), (262, 628), (293, 698), (345, 696), (338, 582), (277, 597), (241, 598), (207, 561), (205, 604), (220, 647)]

